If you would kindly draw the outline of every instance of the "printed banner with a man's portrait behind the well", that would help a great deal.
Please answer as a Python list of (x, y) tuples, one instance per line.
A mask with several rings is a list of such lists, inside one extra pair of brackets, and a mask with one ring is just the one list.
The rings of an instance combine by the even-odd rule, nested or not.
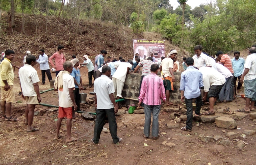
[(161, 60), (162, 56), (165, 57), (164, 41), (133, 39), (133, 51), (134, 57), (136, 53), (139, 53), (140, 60), (150, 57), (150, 54), (153, 53), (153, 57), (155, 57), (154, 62), (156, 63), (158, 60)]

